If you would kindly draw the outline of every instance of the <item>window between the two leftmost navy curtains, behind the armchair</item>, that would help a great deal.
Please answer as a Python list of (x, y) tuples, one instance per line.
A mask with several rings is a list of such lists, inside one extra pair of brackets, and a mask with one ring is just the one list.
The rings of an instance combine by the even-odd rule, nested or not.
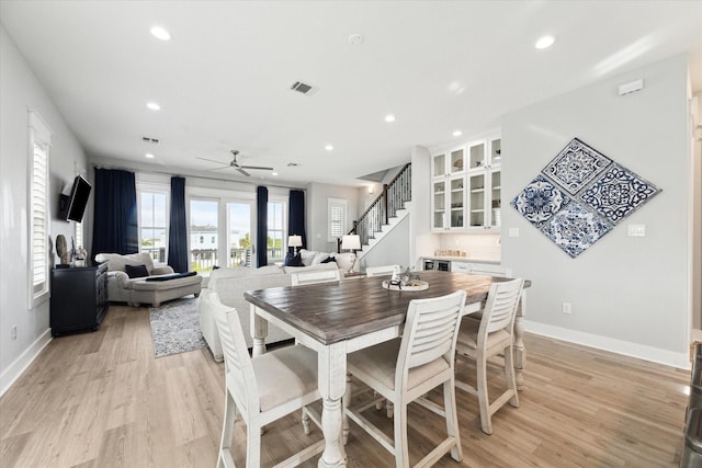
[(139, 190), (139, 252), (166, 263), (168, 248), (168, 192)]

